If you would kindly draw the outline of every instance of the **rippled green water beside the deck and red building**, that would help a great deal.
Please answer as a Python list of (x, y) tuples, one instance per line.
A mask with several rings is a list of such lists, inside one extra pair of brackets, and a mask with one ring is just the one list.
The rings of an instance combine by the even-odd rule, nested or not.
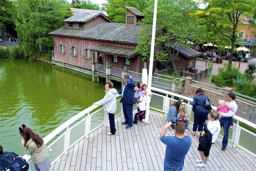
[(0, 59), (0, 145), (23, 155), (20, 125), (44, 137), (102, 99), (104, 91), (104, 79), (92, 82), (90, 75), (40, 61)]

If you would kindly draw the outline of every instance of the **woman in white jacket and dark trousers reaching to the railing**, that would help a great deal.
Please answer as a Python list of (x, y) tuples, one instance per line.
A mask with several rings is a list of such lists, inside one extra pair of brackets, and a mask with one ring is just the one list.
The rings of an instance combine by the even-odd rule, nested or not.
[(114, 135), (116, 133), (114, 113), (116, 112), (117, 91), (116, 89), (113, 88), (112, 82), (106, 82), (105, 92), (106, 92), (105, 97), (102, 100), (93, 103), (93, 105), (99, 106), (103, 104), (104, 110), (108, 113), (108, 119), (109, 119), (109, 125), (110, 125), (110, 130), (108, 130), (107, 134)]

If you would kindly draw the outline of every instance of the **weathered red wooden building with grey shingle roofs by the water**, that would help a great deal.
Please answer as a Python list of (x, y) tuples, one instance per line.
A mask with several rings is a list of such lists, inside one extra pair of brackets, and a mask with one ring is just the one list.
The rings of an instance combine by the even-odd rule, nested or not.
[[(92, 70), (92, 57), (96, 64), (142, 72), (144, 61), (135, 52), (142, 26), (137, 21), (144, 16), (133, 7), (126, 7), (126, 23), (113, 23), (101, 12), (84, 12), (69, 17), (67, 26), (49, 33), (54, 38), (54, 61)], [(149, 63), (149, 62), (147, 62)], [(153, 70), (157, 68), (154, 61)], [(113, 72), (113, 71), (112, 71)]]

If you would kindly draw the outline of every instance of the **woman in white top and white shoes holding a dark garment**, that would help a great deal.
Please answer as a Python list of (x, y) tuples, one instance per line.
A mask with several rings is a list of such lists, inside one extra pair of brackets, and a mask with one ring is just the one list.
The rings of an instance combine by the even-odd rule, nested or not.
[(195, 160), (198, 167), (207, 166), (210, 149), (221, 131), (221, 125), (219, 122), (219, 119), (221, 119), (221, 115), (218, 112), (211, 112), (209, 113), (208, 118), (209, 122), (207, 123), (207, 125), (204, 125), (203, 131), (200, 132), (198, 152), (201, 156), (201, 160)]

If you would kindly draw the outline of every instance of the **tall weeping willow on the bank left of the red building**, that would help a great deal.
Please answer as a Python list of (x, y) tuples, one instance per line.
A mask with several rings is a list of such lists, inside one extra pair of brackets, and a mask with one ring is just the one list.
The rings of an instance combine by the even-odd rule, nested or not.
[(20, 46), (26, 57), (32, 58), (39, 45), (44, 50), (53, 48), (53, 38), (49, 32), (64, 24), (70, 12), (65, 0), (17, 0), (13, 18)]

